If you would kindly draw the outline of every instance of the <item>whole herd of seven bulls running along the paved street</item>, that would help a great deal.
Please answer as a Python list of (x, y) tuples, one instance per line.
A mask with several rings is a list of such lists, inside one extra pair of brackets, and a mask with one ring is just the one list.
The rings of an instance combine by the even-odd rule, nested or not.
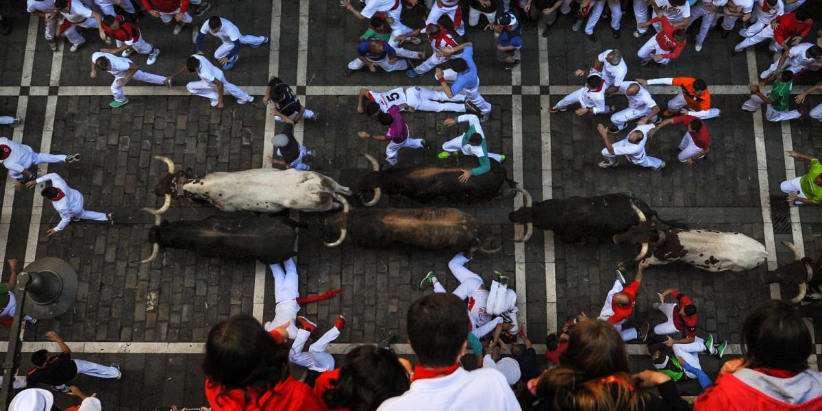
[[(529, 192), (516, 187), (506, 169), (494, 161), (489, 173), (463, 183), (457, 177), (463, 169), (477, 166), (475, 157), (452, 156), (381, 170), (374, 157), (363, 155), (373, 167), (358, 185), (358, 196), (366, 207), (376, 205), (383, 193), (407, 196), (421, 203), (438, 197), (452, 201), (487, 201), (521, 193), (524, 206), (508, 217), (510, 222), (524, 226), (524, 233), (515, 238), (517, 242), (528, 241), (536, 227), (552, 231), (562, 242), (594, 238), (639, 247), (635, 260), (620, 263), (621, 268), (648, 259), (652, 265), (682, 261), (712, 272), (741, 271), (760, 266), (767, 257), (765, 247), (753, 238), (741, 233), (688, 229), (676, 221), (659, 218), (655, 210), (634, 196), (606, 194), (533, 202)], [(345, 197), (353, 196), (352, 190), (321, 173), (251, 169), (197, 178), (177, 170), (171, 159), (162, 156), (155, 159), (167, 164), (169, 172), (155, 186), (155, 194), (164, 197), (164, 204), (156, 210), (143, 209), (155, 215), (155, 227), (150, 231), (153, 252), (141, 261), (144, 263), (154, 261), (160, 247), (255, 259), (266, 264), (283, 261), (293, 254), (296, 229), (307, 227), (306, 223), (286, 217), (270, 216), (287, 209), (306, 212), (342, 209), (324, 221), (325, 230), (339, 232), (336, 241), (326, 242), (328, 247), (339, 246), (350, 238), (361, 247), (399, 243), (468, 254), (501, 250), (501, 247), (489, 248), (493, 238), (478, 237), (478, 219), (455, 208), (352, 208)], [(197, 221), (162, 221), (161, 215), (169, 210), (173, 198), (204, 201), (219, 210), (246, 213)], [(667, 229), (659, 229), (658, 222)], [(801, 256), (793, 244), (784, 244), (794, 252), (796, 261), (766, 272), (763, 281), (799, 284), (799, 293), (793, 302), (818, 297), (822, 260), (811, 261)], [(818, 304), (820, 302), (815, 301), (815, 305)]]

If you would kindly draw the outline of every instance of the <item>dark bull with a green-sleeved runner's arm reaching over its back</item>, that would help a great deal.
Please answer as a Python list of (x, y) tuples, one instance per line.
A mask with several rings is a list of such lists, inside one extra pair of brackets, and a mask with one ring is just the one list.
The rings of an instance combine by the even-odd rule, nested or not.
[(508, 178), (506, 169), (496, 161), (491, 162), (491, 171), (473, 176), (467, 182), (459, 182), (459, 175), (465, 169), (478, 166), (477, 157), (452, 155), (447, 159), (437, 159), (430, 164), (400, 165), (380, 169), (372, 155), (363, 152), (372, 164), (373, 171), (367, 173), (360, 182), (360, 196), (373, 192), (371, 201), (364, 201), (368, 207), (380, 201), (382, 192), (401, 194), (421, 203), (445, 196), (452, 200), (491, 200), (501, 194), (503, 182), (516, 187), (516, 182)]

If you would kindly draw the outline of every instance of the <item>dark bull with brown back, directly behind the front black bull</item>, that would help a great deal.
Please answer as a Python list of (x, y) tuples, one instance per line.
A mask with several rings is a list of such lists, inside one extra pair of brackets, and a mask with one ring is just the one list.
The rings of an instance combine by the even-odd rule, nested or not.
[(350, 210), (343, 201), (343, 212), (325, 221), (326, 229), (339, 231), (337, 247), (350, 237), (363, 247), (387, 247), (393, 243), (438, 250), (450, 248), (459, 252), (498, 252), (488, 249), (492, 238), (480, 241), (479, 223), (473, 215), (454, 208), (359, 209)]

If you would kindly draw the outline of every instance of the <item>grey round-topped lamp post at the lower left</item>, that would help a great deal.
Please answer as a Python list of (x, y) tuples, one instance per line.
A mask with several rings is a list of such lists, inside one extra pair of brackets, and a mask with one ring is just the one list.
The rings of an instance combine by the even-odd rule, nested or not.
[(6, 360), (2, 363), (0, 411), (6, 411), (14, 397), (14, 374), (20, 367), (20, 329), (23, 316), (49, 320), (66, 312), (77, 296), (77, 274), (66, 261), (43, 257), (26, 266), (17, 276), (17, 309), (9, 330)]

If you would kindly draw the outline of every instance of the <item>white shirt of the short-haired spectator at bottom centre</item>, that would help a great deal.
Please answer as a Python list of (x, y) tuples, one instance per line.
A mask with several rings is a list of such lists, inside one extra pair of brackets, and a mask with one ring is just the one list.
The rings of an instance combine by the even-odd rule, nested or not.
[(403, 395), (386, 399), (377, 411), (519, 411), (506, 377), (492, 368), (413, 381)]

